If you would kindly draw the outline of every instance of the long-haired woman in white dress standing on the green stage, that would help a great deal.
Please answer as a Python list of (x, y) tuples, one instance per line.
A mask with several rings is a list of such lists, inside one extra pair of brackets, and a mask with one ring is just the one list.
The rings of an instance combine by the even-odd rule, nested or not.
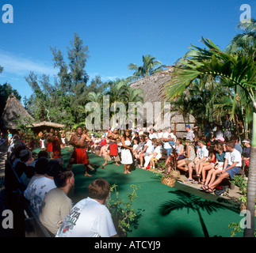
[(124, 174), (131, 173), (129, 170), (133, 161), (131, 130), (124, 130), (124, 134), (121, 138), (121, 143), (122, 143), (121, 163), (124, 164)]

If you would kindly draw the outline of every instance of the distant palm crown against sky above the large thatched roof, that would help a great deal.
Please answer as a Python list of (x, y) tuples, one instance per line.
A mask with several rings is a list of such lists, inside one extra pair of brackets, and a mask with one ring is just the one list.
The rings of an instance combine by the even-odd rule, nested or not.
[(135, 70), (132, 77), (128, 77), (128, 81), (136, 81), (139, 78), (147, 77), (162, 70), (164, 67), (161, 62), (155, 60), (151, 55), (143, 55), (143, 65), (137, 66), (134, 63), (128, 65), (128, 70)]

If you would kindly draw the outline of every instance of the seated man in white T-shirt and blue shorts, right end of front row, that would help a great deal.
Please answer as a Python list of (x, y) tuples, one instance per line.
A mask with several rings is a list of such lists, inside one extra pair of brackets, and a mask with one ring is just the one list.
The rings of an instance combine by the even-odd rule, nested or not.
[(205, 187), (204, 192), (212, 193), (212, 191), (227, 177), (230, 176), (232, 179), (237, 173), (239, 173), (242, 161), (241, 153), (235, 149), (234, 142), (227, 142), (226, 145), (227, 152), (225, 153), (224, 168), (220, 173), (220, 176), (207, 187)]

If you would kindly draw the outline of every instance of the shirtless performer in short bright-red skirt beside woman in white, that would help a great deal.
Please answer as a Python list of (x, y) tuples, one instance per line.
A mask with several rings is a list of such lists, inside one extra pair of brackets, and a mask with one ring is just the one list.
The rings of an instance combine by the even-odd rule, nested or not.
[(108, 134), (107, 138), (109, 139), (109, 148), (107, 154), (105, 155), (105, 164), (103, 164), (103, 166), (107, 164), (108, 160), (114, 160), (116, 165), (120, 165), (118, 164), (120, 157), (118, 155), (117, 146), (117, 142), (120, 142), (120, 135), (118, 134), (117, 128), (113, 130), (113, 133)]

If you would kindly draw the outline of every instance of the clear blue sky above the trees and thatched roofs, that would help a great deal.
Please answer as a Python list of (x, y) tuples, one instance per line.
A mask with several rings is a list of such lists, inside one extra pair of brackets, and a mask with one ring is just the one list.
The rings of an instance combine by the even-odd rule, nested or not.
[[(2, 22), (5, 4), (13, 6), (13, 24)], [(243, 4), (255, 18), (255, 1), (0, 0), (0, 84), (29, 97), (25, 77), (30, 71), (53, 77), (50, 47), (66, 55), (75, 32), (89, 47), (90, 81), (97, 74), (103, 81), (129, 77), (128, 64), (140, 65), (147, 54), (171, 65), (191, 43), (203, 47), (201, 36), (224, 49), (239, 32)]]

